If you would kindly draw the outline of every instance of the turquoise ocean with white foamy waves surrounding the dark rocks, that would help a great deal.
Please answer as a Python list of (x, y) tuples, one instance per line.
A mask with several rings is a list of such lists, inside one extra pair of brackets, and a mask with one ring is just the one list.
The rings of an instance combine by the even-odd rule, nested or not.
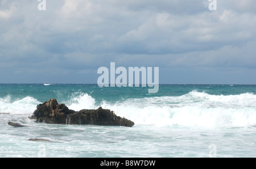
[[(256, 85), (0, 84), (0, 157), (256, 157)], [(69, 109), (111, 109), (122, 126), (28, 118), (56, 98)], [(7, 122), (27, 125), (15, 128)], [(49, 141), (29, 141), (42, 138)]]

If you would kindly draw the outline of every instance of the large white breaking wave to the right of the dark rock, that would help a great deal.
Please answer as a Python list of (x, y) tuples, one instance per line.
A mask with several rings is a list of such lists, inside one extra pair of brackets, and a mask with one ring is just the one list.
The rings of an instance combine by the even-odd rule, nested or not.
[(135, 124), (234, 127), (256, 125), (255, 103), (253, 94), (217, 96), (193, 91), (176, 97), (105, 102), (102, 107)]

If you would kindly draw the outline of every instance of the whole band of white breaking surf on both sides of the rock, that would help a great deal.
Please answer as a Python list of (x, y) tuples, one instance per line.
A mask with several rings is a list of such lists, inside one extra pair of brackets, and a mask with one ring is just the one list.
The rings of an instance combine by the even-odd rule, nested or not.
[[(0, 98), (0, 112), (32, 114), (40, 102), (27, 96), (11, 102), (11, 96)], [(192, 91), (181, 96), (131, 98), (118, 102), (104, 100), (100, 105), (86, 93), (75, 93), (64, 102), (69, 109), (110, 109), (135, 125), (237, 127), (256, 125), (256, 95), (210, 95)]]

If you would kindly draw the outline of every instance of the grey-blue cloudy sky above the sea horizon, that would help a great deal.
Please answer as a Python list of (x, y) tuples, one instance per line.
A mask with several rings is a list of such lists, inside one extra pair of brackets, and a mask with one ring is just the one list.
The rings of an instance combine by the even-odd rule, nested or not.
[(170, 84), (256, 84), (256, 1), (0, 0), (0, 83), (97, 83), (101, 66)]

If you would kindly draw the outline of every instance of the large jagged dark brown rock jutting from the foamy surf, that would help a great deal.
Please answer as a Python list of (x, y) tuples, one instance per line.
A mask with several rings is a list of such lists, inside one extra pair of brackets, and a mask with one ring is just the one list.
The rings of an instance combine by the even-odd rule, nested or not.
[(49, 124), (77, 124), (77, 125), (115, 125), (133, 126), (134, 122), (125, 117), (115, 115), (109, 109), (82, 109), (78, 112), (69, 109), (64, 103), (58, 104), (56, 99), (49, 99), (39, 104), (30, 117), (37, 122)]

